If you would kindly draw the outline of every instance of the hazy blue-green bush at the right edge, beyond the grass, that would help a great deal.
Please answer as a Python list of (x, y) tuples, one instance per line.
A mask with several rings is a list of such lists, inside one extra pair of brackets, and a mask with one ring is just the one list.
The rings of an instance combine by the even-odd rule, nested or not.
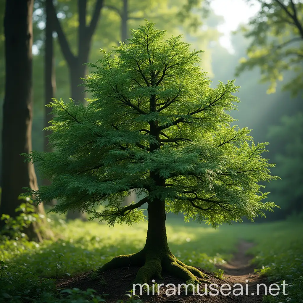
[(270, 185), (275, 201), (290, 214), (291, 211), (303, 212), (303, 115), (283, 117), (280, 125), (269, 128), (268, 137), (279, 140), (280, 148), (276, 152), (276, 172), (282, 181)]

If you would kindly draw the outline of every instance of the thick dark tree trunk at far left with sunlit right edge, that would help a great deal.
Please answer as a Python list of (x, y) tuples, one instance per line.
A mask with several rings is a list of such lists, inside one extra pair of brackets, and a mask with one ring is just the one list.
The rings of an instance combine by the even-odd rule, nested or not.
[[(32, 10), (34, 0), (9, 0), (5, 7), (5, 98), (2, 129), (2, 197), (0, 216), (15, 217), (22, 187), (38, 189), (34, 165), (21, 153), (32, 150)], [(37, 212), (45, 214), (43, 204)], [(4, 222), (0, 222), (3, 226)], [(30, 239), (42, 240), (30, 225)]]

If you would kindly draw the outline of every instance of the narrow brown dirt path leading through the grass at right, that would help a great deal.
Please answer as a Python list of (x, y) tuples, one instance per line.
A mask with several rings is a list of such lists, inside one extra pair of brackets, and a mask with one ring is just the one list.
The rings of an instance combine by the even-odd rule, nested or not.
[(259, 296), (256, 296), (257, 284), (267, 283), (265, 278), (261, 278), (254, 273), (255, 266), (251, 265), (251, 260), (254, 256), (247, 254), (247, 251), (253, 246), (254, 243), (241, 241), (237, 247), (238, 252), (235, 253), (233, 259), (219, 268), (225, 271), (225, 277), (230, 284), (240, 283), (246, 286), (248, 283), (249, 296), (247, 297), (247, 302), (262, 302), (264, 288), (260, 287)]

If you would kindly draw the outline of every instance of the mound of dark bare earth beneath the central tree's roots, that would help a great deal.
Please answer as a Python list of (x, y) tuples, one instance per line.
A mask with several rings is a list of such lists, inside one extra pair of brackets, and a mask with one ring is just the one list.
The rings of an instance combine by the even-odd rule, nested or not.
[[(115, 269), (115, 270), (108, 270), (103, 273), (98, 274), (98, 276), (95, 276), (93, 271), (87, 272), (85, 274), (76, 276), (74, 278), (69, 279), (68, 281), (58, 281), (57, 287), (58, 288), (79, 288), (81, 290), (86, 290), (87, 288), (92, 288), (97, 291), (98, 295), (105, 295), (105, 300), (108, 303), (116, 303), (117, 300), (123, 299), (126, 301), (125, 293), (126, 291), (132, 289), (132, 283), (135, 280), (136, 273), (138, 271), (138, 267), (129, 267), (129, 268), (121, 268), (121, 269)], [(198, 268), (202, 272), (203, 269)], [(192, 292), (188, 291), (188, 295), (185, 295), (185, 289), (181, 289), (180, 295), (178, 295), (178, 284), (184, 283), (184, 281), (181, 281), (178, 278), (172, 277), (172, 276), (165, 276), (163, 275), (162, 280), (156, 280), (158, 284), (163, 283), (165, 286), (168, 283), (172, 283), (176, 285), (176, 295), (170, 295), (167, 296), (165, 294), (165, 291), (168, 288), (171, 288), (169, 286), (166, 288), (165, 286), (160, 287), (159, 295), (157, 295), (157, 290), (155, 290), (155, 295), (152, 295), (152, 289), (150, 287), (150, 295), (148, 296), (147, 293), (143, 293), (142, 296), (140, 296), (140, 299), (143, 302), (183, 302), (183, 303), (190, 303), (190, 302), (212, 302), (212, 303), (218, 303), (218, 302), (262, 302), (262, 295), (263, 293), (260, 293), (259, 296), (256, 295), (256, 282), (259, 280), (257, 275), (250, 276), (253, 281), (248, 282), (248, 296), (245, 295), (246, 293), (246, 284), (239, 281), (239, 276), (237, 276), (236, 281), (233, 281), (233, 277), (231, 275), (225, 276), (223, 280), (217, 279), (214, 277), (214, 275), (210, 273), (208, 274), (209, 278), (208, 281), (210, 281), (212, 284), (217, 284), (218, 289), (220, 290), (220, 287), (222, 284), (227, 283), (231, 285), (231, 289), (233, 290), (233, 285), (235, 283), (241, 283), (243, 285), (243, 294), (235, 296), (232, 293), (230, 295), (222, 295), (219, 293), (219, 295), (211, 296), (209, 293), (207, 295), (192, 295)], [(199, 280), (199, 279), (198, 279)], [(251, 283), (252, 282), (252, 283)], [(258, 281), (258, 283), (261, 283)], [(152, 281), (149, 281), (149, 285), (152, 284)], [(202, 294), (204, 292), (203, 288), (205, 287), (205, 283), (202, 282), (202, 285), (200, 286), (200, 293)], [(227, 288), (225, 286), (224, 288)], [(239, 288), (239, 286), (235, 287)], [(215, 293), (215, 291), (209, 289), (209, 284), (207, 285), (207, 289), (210, 290), (212, 293)], [(260, 288), (260, 291), (262, 291), (263, 288)], [(139, 293), (140, 289), (136, 288), (136, 294)], [(228, 291), (225, 291), (227, 293)], [(254, 292), (254, 295), (252, 296), (251, 293)]]

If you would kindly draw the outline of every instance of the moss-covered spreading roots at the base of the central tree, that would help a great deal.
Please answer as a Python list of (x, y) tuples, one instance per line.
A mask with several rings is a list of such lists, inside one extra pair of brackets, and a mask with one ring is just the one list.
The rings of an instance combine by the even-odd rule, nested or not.
[[(196, 283), (206, 282), (207, 275), (203, 274), (197, 268), (188, 266), (179, 261), (171, 252), (157, 254), (155, 252), (145, 252), (144, 249), (138, 253), (131, 255), (122, 255), (113, 258), (111, 261), (105, 263), (100, 271), (107, 271), (108, 269), (122, 268), (128, 266), (140, 266), (134, 283), (148, 283), (152, 278), (162, 279), (161, 273), (173, 275), (182, 280), (195, 281)], [(200, 278), (198, 280), (197, 278)], [(201, 280), (203, 279), (203, 280)]]

